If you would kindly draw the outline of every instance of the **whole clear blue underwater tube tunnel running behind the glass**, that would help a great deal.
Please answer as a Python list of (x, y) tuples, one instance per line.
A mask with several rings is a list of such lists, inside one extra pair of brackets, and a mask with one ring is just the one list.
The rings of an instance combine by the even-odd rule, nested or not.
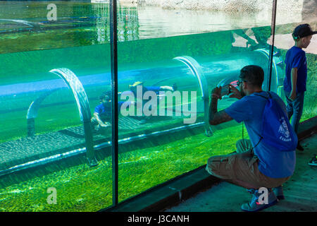
[[(28, 52), (25, 54), (37, 54), (37, 52)], [(42, 52), (39, 54), (42, 54)], [(156, 95), (159, 94), (155, 97), (156, 100), (152, 99), (152, 96), (147, 98), (144, 98), (144, 96), (135, 98), (137, 102), (142, 101), (142, 104), (137, 105), (137, 103), (135, 103), (133, 106), (135, 108), (134, 113), (137, 113), (137, 107), (139, 106), (142, 109), (142, 114), (125, 114), (125, 116), (122, 114), (122, 110), (124, 109), (120, 108), (120, 114), (118, 116), (119, 143), (142, 140), (162, 134), (168, 135), (175, 131), (182, 131), (193, 127), (204, 128), (205, 135), (212, 136), (213, 126), (209, 126), (208, 120), (209, 95), (211, 90), (216, 87), (216, 85), (226, 85), (228, 83), (234, 85), (238, 79), (240, 69), (250, 64), (259, 65), (265, 71), (263, 90), (267, 90), (268, 56), (268, 50), (257, 49), (252, 52), (238, 52), (210, 57), (177, 56), (173, 59), (155, 62), (155, 64), (139, 63), (137, 65), (119, 66), (119, 101), (125, 102), (127, 100), (126, 98), (122, 98), (122, 94), (129, 93), (129, 85), (132, 85), (136, 81), (143, 82), (144, 87), (172, 87), (173, 85), (177, 87), (174, 92), (170, 93), (168, 93), (167, 90), (163, 90), (163, 94), (152, 93)], [(274, 53), (271, 78), (271, 90), (274, 92), (279, 92), (280, 85), (282, 85), (281, 66), (282, 61), (280, 57), (278, 57), (278, 53)], [(54, 71), (54, 69), (51, 70)], [(72, 71), (72, 69), (68, 68), (68, 71)], [(108, 126), (100, 133), (93, 133), (93, 126), (92, 130), (87, 129), (89, 128), (87, 125), (90, 120), (89, 117), (93, 116), (94, 107), (99, 105), (99, 96), (101, 93), (111, 90), (110, 71), (106, 73), (83, 73), (81, 71), (80, 76), (76, 75), (77, 71), (74, 70), (72, 72), (73, 76), (77, 78), (75, 80), (83, 87), (80, 93), (78, 93), (77, 90), (77, 88), (80, 87), (80, 85), (76, 85), (77, 82), (74, 83), (75, 85), (69, 85), (69, 83), (66, 83), (65, 78), (60, 78), (63, 76), (58, 77), (56, 74), (50, 72), (47, 72), (51, 76), (51, 79), (48, 80), (1, 86), (0, 105), (3, 105), (1, 106), (2, 109), (6, 109), (8, 112), (25, 112), (24, 115), (27, 118), (27, 123), (25, 123), (27, 134), (25, 135), (30, 138), (33, 137), (32, 142), (27, 145), (32, 146), (30, 148), (33, 153), (36, 152), (35, 150), (39, 152), (43, 150), (47, 151), (47, 155), (41, 153), (40, 155), (27, 157), (28, 160), (37, 160), (39, 156), (42, 156), (48, 157), (46, 160), (52, 161), (54, 160), (54, 158), (50, 156), (52, 154), (58, 154), (58, 156), (56, 155), (56, 160), (58, 160), (61, 157), (70, 157), (85, 153), (86, 150), (92, 150), (89, 156), (90, 159), (94, 161), (94, 151), (111, 146), (111, 126)], [(144, 95), (144, 93), (142, 94)], [(77, 100), (81, 97), (85, 97), (85, 100)], [(153, 101), (151, 102), (152, 105), (149, 105), (150, 100)], [(223, 100), (218, 103), (218, 109), (228, 107), (233, 101), (235, 100), (232, 98), (223, 97)], [(85, 114), (83, 114), (78, 104), (79, 102), (82, 102), (81, 105), (85, 106), (82, 108), (85, 109)], [(66, 119), (66, 123), (63, 124), (64, 128), (61, 131), (57, 131), (58, 136), (61, 136), (60, 139), (63, 142), (54, 141), (55, 135), (53, 136), (53, 133), (55, 134), (55, 132), (49, 131), (47, 127), (45, 127), (47, 131), (44, 132), (44, 135), (35, 136), (37, 129), (42, 126), (43, 121), (43, 118), (42, 121), (39, 121), (37, 119), (38, 116), (42, 114), (56, 117), (55, 111), (58, 112), (60, 109), (66, 111), (67, 114), (70, 115), (69, 118), (79, 113), (78, 119), (81, 121), (79, 124), (84, 126), (68, 124), (68, 120)], [(87, 112), (87, 109), (88, 111), (89, 109), (91, 110), (91, 114)], [(144, 114), (145, 109), (150, 109), (151, 114)], [(154, 110), (156, 110), (156, 114), (153, 114)], [(83, 115), (86, 115), (85, 117), (88, 118), (86, 119)], [(147, 120), (146, 123), (143, 124), (141, 122), (144, 118)], [(8, 120), (14, 119), (8, 117)], [(50, 119), (47, 119), (45, 121), (47, 122), (49, 120)], [(49, 138), (50, 140), (46, 141), (46, 136), (53, 138)], [(67, 138), (63, 136), (67, 136)], [(43, 141), (41, 141), (41, 139), (43, 139)], [(27, 140), (27, 142), (30, 141), (31, 140)], [(42, 143), (44, 143), (45, 149), (43, 149)], [(90, 147), (87, 147), (87, 144), (89, 144)], [(2, 145), (6, 146), (6, 143)], [(21, 156), (24, 158), (25, 152), (28, 150), (24, 150), (21, 146), (25, 148), (22, 141), (18, 143), (17, 147), (21, 152)], [(61, 155), (61, 153), (63, 153), (63, 155)], [(17, 164), (19, 161), (14, 160), (11, 162)], [(22, 158), (20, 163), (25, 163), (22, 161)], [(37, 164), (38, 162), (33, 163)]]

